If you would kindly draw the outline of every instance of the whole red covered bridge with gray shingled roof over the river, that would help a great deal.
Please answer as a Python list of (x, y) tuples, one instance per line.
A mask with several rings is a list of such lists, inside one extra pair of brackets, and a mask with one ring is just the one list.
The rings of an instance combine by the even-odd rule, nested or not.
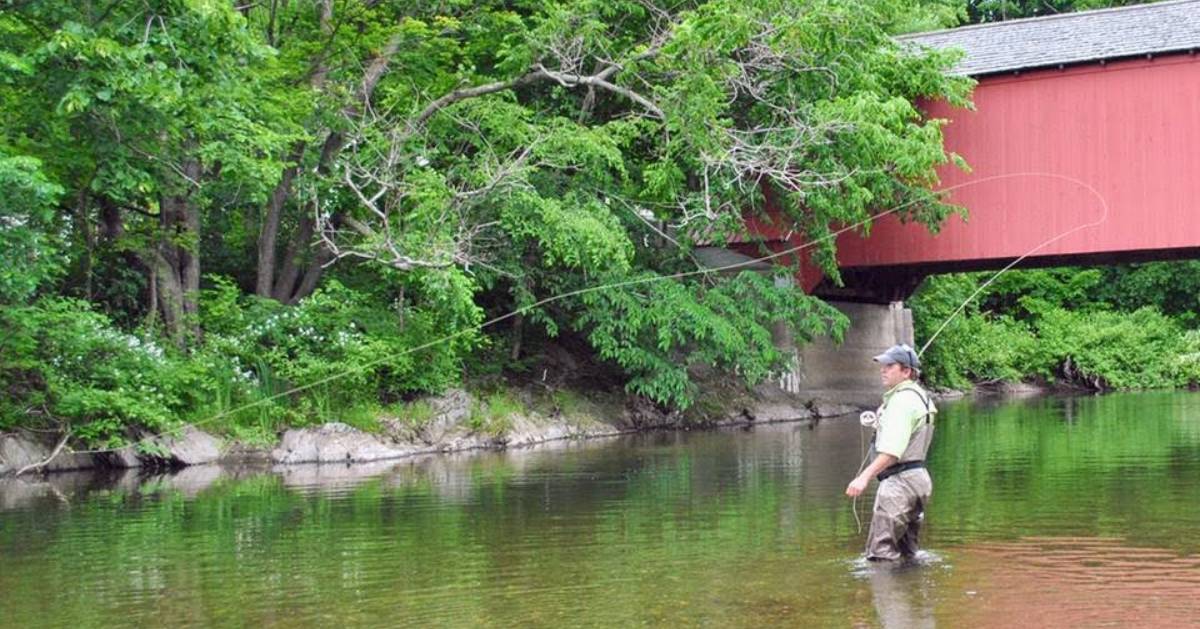
[[(1200, 1), (984, 24), (907, 36), (966, 50), (955, 72), (977, 78), (976, 110), (944, 118), (947, 149), (971, 173), (941, 172), (968, 210), (936, 235), (878, 221), (844, 234), (846, 286), (815, 269), (805, 288), (848, 301), (904, 300), (930, 274), (1200, 257)], [(961, 186), (961, 187), (958, 187)], [(1088, 188), (1093, 188), (1092, 190)], [(793, 235), (792, 245), (803, 242)], [(779, 242), (782, 245), (782, 242)]]

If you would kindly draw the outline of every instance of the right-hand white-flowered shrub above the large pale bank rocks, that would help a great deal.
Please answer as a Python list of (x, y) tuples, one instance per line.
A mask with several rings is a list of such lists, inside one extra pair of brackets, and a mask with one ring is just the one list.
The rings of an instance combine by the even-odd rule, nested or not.
[(294, 390), (281, 401), (299, 413), (294, 420), (340, 419), (344, 408), (438, 391), (457, 382), (478, 337), (469, 318), (397, 311), (336, 280), (296, 306), (239, 296), (230, 281), (214, 284), (202, 300), (205, 351), (228, 358), (256, 385), (274, 381), (269, 395)]

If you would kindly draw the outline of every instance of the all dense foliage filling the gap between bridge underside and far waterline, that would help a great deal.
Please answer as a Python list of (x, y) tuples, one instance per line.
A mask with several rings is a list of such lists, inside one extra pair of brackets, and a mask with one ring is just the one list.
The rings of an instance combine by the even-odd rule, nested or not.
[[(1200, 384), (1200, 263), (1018, 270), (950, 321), (924, 355), (930, 382), (1063, 381), (1091, 389)], [(932, 337), (994, 274), (931, 277), (912, 300)]]

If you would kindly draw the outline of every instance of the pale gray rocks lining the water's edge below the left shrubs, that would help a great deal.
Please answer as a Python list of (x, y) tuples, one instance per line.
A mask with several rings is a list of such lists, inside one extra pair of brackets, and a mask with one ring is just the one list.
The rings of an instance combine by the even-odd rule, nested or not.
[[(640, 400), (593, 405), (587, 409), (550, 413), (524, 409), (504, 419), (503, 426), (482, 427), (472, 421), (475, 400), (464, 390), (451, 390), (428, 400), (432, 417), (419, 425), (404, 418), (382, 418), (379, 431), (362, 431), (342, 423), (284, 431), (274, 448), (223, 442), (194, 426), (169, 435), (146, 437), (140, 448), (76, 453), (60, 449), (60, 435), (17, 431), (0, 436), (0, 475), (22, 469), (53, 473), (74, 469), (163, 469), (211, 463), (292, 466), (305, 463), (374, 463), (418, 455), (466, 450), (502, 450), (540, 443), (592, 439), (647, 431), (696, 430), (781, 421), (804, 421), (846, 415), (857, 406), (803, 400), (763, 391), (727, 405), (716, 417), (667, 413)], [(43, 463), (44, 465), (40, 465)]]

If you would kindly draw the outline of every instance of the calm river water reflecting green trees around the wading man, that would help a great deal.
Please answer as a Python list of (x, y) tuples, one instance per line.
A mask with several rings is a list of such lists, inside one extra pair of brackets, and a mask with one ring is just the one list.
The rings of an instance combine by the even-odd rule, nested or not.
[(8, 481), (0, 625), (1200, 624), (1200, 395), (944, 403), (902, 570), (858, 559), (862, 448), (844, 418)]

